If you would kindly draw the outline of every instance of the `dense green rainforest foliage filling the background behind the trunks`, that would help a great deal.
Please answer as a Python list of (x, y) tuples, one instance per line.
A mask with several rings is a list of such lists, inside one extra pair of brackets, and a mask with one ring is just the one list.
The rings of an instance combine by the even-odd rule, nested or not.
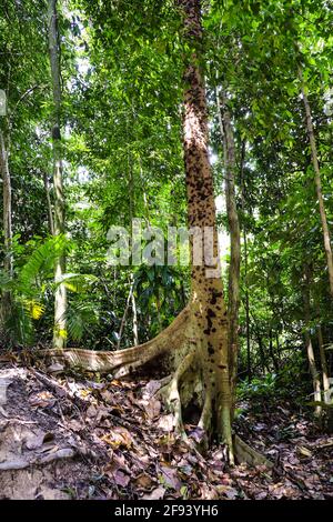
[[(13, 299), (12, 343), (49, 342), (53, 263), (68, 249), (68, 342), (115, 348), (134, 279), (139, 338), (148, 340), (181, 310), (189, 270), (108, 265), (107, 232), (186, 224), (181, 149), (182, 44), (171, 1), (59, 1), (65, 247), (49, 238), (44, 174), (50, 182), (50, 71), (44, 0), (6, 2), (0, 17), (0, 117), (10, 151), (14, 275), (0, 273)], [(241, 396), (270, 395), (299, 379), (309, 383), (304, 333), (319, 357), (333, 342), (332, 303), (313, 182), (302, 69), (311, 103), (322, 191), (332, 230), (332, 10), (324, 0), (214, 0), (204, 6), (204, 68), (216, 195), (224, 158), (216, 88), (228, 94), (236, 150), (236, 202), (242, 229)], [(24, 60), (22, 54), (24, 53)], [(51, 205), (53, 189), (50, 183)], [(228, 220), (219, 208), (219, 224)], [(224, 248), (226, 279), (229, 249)], [(0, 247), (3, 261), (3, 248)], [(304, 264), (311, 268), (311, 319), (304, 320)], [(85, 274), (85, 275), (84, 275)], [(4, 342), (4, 340), (2, 340)], [(133, 342), (129, 307), (122, 347)], [(250, 359), (248, 353), (250, 345)], [(332, 351), (326, 350), (329, 370)], [(303, 353), (303, 355), (302, 355)], [(250, 361), (250, 368), (249, 368)], [(271, 377), (269, 377), (271, 375)], [(275, 378), (273, 378), (275, 375)], [(307, 384), (306, 384), (307, 385)], [(305, 388), (306, 388), (305, 385)], [(304, 392), (305, 394), (309, 392)]]

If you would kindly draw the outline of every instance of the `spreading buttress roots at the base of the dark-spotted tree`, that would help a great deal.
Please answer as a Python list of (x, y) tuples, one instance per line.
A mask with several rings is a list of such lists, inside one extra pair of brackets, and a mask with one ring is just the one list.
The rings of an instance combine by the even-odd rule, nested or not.
[[(51, 359), (63, 365), (78, 367), (87, 371), (108, 373), (122, 378), (154, 360), (163, 359), (171, 375), (161, 382), (157, 392), (163, 398), (174, 415), (174, 429), (186, 438), (183, 426), (182, 409), (199, 403), (202, 408), (198, 426), (205, 434), (212, 425), (223, 434), (223, 442), (229, 448), (230, 463), (233, 463), (233, 444), (230, 425), (229, 375), (224, 360), (208, 357), (205, 345), (202, 347), (202, 332), (196, 322), (193, 304), (188, 305), (178, 318), (158, 337), (133, 348), (119, 351), (94, 352), (91, 350), (44, 350), (37, 352), (37, 358)], [(203, 312), (200, 311), (199, 317)], [(223, 339), (222, 339), (223, 341)], [(221, 340), (218, 339), (220, 343)], [(54, 367), (54, 365), (53, 365)], [(59, 365), (58, 365), (59, 367)], [(190, 368), (192, 367), (192, 368)], [(213, 372), (213, 384), (210, 382)], [(189, 371), (191, 369), (191, 371)], [(144, 370), (150, 370), (145, 367)], [(59, 371), (59, 368), (57, 368)], [(218, 404), (218, 409), (216, 409)], [(196, 419), (194, 423), (196, 422)], [(205, 440), (206, 445), (208, 439)]]

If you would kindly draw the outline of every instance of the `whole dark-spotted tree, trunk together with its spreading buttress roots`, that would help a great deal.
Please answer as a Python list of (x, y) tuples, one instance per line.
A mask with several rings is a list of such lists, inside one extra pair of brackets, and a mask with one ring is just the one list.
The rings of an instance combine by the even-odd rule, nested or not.
[(222, 439), (233, 461), (231, 433), (231, 392), (228, 361), (228, 312), (218, 252), (215, 203), (208, 151), (205, 89), (198, 66), (202, 39), (201, 9), (198, 0), (178, 0), (184, 20), (184, 39), (196, 48), (185, 60), (183, 148), (186, 172), (189, 225), (214, 232), (203, 239), (203, 252), (213, 251), (191, 271), (191, 298), (173, 323), (145, 344), (117, 352), (89, 350), (50, 351), (50, 355), (92, 371), (112, 371), (117, 375), (142, 367), (158, 357), (168, 357), (174, 372), (160, 391), (174, 413), (175, 428), (182, 431), (182, 406), (193, 398), (202, 408), (199, 425)]

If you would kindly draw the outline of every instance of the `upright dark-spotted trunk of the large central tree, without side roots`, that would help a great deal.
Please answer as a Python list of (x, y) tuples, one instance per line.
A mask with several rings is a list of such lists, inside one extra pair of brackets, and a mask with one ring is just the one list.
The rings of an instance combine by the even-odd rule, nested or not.
[[(198, 48), (198, 42), (202, 40), (200, 1), (179, 0), (179, 6), (184, 12), (185, 39), (191, 47)], [(205, 247), (208, 251), (213, 247), (214, 260), (211, 260), (211, 267), (206, 259), (203, 267), (192, 267), (190, 333), (194, 334), (196, 343), (199, 341), (195, 359), (200, 361), (205, 394), (201, 425), (209, 429), (213, 422), (218, 433), (231, 446), (228, 313), (223, 300), (213, 179), (208, 152), (206, 98), (198, 58), (192, 56), (185, 70), (188, 88), (183, 128), (188, 213), (190, 227), (198, 227), (201, 231), (209, 227), (214, 231), (213, 244), (205, 238), (203, 240), (203, 251)]]

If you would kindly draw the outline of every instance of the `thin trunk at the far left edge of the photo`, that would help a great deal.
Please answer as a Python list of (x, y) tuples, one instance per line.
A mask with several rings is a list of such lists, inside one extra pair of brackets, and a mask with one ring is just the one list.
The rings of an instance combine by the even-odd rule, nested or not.
[[(11, 178), (9, 171), (9, 147), (8, 140), (2, 130), (0, 130), (0, 168), (2, 177), (2, 205), (3, 205), (3, 245), (4, 260), (3, 271), (9, 279), (13, 272), (12, 255), (12, 215), (11, 215)], [(10, 315), (11, 294), (6, 291), (1, 297), (1, 322), (4, 323)]]

